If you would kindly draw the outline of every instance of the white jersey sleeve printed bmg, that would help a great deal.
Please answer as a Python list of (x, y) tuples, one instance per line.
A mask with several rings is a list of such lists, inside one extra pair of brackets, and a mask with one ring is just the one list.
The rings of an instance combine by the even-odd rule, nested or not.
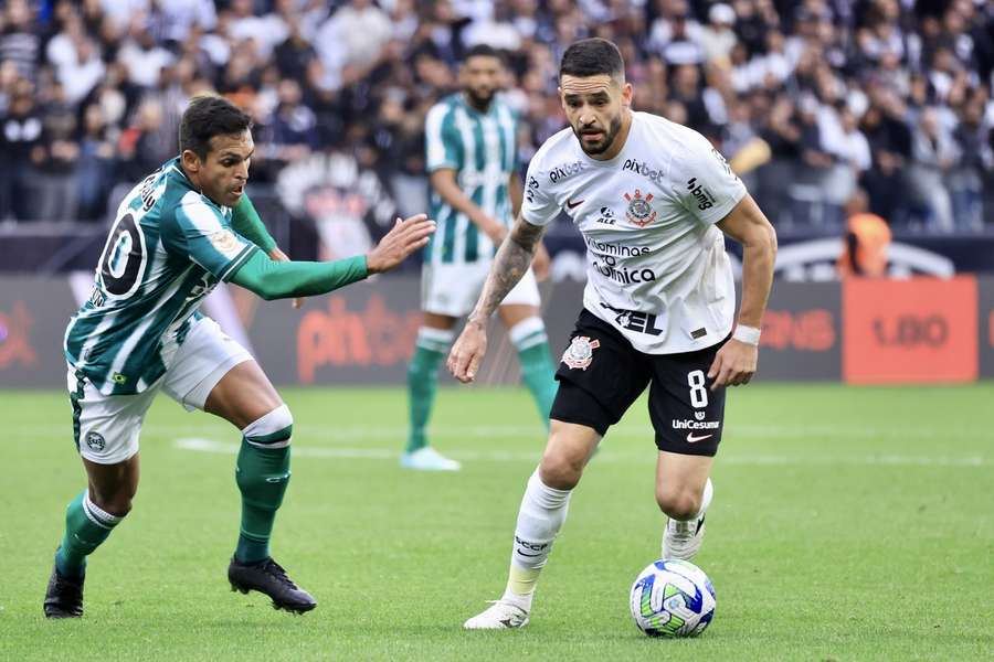
[(713, 225), (745, 196), (745, 185), (707, 138), (692, 131), (673, 158), (674, 194), (698, 221)]

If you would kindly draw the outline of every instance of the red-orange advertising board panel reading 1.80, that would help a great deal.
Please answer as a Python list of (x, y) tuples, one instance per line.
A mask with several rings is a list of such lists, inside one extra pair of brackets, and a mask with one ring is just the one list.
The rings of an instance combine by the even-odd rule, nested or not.
[(846, 280), (843, 334), (850, 384), (976, 380), (976, 279)]

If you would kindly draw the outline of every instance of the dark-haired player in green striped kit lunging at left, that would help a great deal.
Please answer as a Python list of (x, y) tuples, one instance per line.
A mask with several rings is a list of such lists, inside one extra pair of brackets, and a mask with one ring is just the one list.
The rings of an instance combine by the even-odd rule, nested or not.
[(180, 127), (180, 157), (121, 202), (93, 295), (66, 329), (73, 431), (88, 487), (66, 510), (44, 600), (49, 618), (83, 615), (86, 557), (131, 509), (138, 436), (159, 391), (242, 431), (232, 589), (258, 590), (274, 607), (295, 612), (317, 605), (269, 556), (290, 474), (293, 417), (251, 354), (198, 308), (221, 280), (265, 299), (331, 291), (395, 267), (427, 244), (434, 223), (423, 214), (398, 220), (364, 256), (289, 261), (244, 194), (251, 125), (220, 97), (191, 102)]

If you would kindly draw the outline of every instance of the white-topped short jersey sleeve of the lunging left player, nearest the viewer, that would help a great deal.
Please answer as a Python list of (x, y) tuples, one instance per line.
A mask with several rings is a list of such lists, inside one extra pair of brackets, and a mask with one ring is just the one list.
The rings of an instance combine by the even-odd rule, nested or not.
[(172, 224), (162, 227), (166, 248), (188, 257), (221, 280), (229, 280), (258, 250), (228, 226), (219, 210), (193, 192), (183, 196)]

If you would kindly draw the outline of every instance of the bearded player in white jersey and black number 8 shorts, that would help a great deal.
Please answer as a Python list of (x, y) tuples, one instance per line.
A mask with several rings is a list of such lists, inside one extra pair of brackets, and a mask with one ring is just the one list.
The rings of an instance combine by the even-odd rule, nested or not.
[[(776, 234), (701, 135), (633, 111), (632, 96), (613, 43), (589, 39), (565, 51), (560, 97), (570, 129), (531, 160), (521, 213), (448, 357), (453, 375), (472, 382), (487, 319), (525, 274), (544, 226), (565, 211), (586, 244), (583, 309), (556, 375), (549, 441), (518, 511), (507, 587), (466, 629), (528, 623), (570, 492), (646, 386), (656, 501), (669, 517), (663, 557), (690, 559), (712, 495), (725, 387), (755, 372)], [(725, 235), (744, 252), (738, 319)]]

